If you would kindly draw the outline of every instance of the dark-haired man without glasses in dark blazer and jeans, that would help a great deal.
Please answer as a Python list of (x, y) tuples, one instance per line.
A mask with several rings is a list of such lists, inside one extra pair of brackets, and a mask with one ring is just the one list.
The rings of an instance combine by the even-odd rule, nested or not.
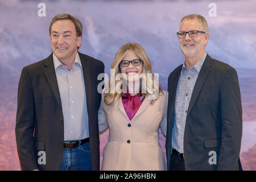
[(50, 24), (52, 54), (22, 69), (16, 143), (22, 170), (99, 170), (97, 92), (104, 64), (77, 52), (82, 24), (69, 14)]

